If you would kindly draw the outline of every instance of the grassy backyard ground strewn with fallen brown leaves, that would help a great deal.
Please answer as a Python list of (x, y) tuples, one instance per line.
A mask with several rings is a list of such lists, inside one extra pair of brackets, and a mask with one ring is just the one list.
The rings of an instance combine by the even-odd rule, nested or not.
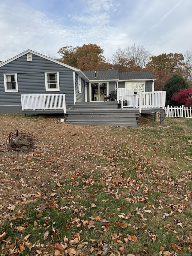
[[(0, 120), (1, 255), (192, 254), (192, 119), (137, 128)], [(17, 128), (38, 146), (7, 150)]]

